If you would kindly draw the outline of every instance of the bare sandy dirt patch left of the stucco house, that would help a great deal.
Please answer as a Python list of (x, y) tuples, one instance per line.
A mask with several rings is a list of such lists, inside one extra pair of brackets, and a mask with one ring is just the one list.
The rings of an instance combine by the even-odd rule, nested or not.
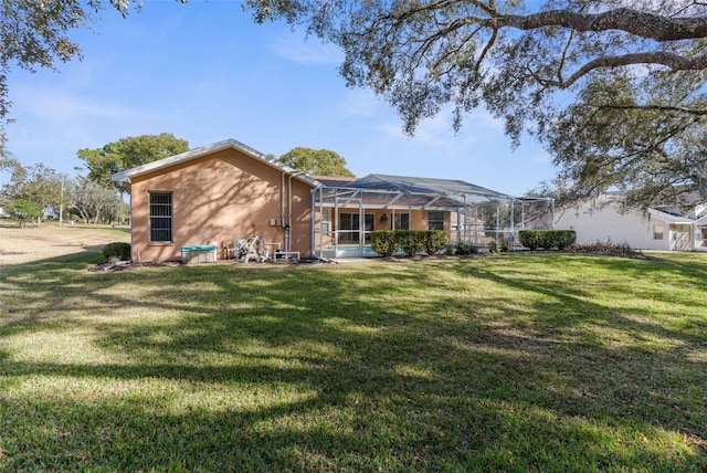
[(19, 228), (0, 223), (0, 266), (22, 264), (74, 253), (99, 253), (106, 243), (129, 242), (127, 228), (103, 225), (59, 225)]

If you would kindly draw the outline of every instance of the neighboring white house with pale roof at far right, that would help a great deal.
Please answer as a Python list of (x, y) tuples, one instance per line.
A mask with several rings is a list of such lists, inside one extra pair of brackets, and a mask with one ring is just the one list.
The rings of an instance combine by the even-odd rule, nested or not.
[(627, 243), (640, 250), (707, 250), (705, 208), (686, 214), (658, 209), (623, 210), (616, 196), (558, 209), (557, 230), (574, 230), (578, 243)]

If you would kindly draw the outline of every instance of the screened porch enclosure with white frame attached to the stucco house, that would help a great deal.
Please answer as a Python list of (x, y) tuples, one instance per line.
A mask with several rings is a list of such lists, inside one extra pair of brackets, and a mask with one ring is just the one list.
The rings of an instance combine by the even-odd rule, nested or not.
[(313, 254), (376, 255), (376, 230), (443, 230), (450, 244), (517, 243), (525, 228), (551, 228), (552, 201), (514, 198), (463, 181), (370, 175), (318, 179), (313, 190)]

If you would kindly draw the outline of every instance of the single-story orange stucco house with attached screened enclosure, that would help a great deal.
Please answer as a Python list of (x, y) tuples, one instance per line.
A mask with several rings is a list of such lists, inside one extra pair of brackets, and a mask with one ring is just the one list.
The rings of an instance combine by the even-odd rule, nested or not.
[[(451, 242), (489, 232), (498, 239), (523, 228), (530, 204), (460, 180), (308, 176), (234, 139), (113, 180), (129, 186), (133, 260), (140, 262), (178, 260), (182, 248), (193, 245), (215, 245), (220, 257), (229, 257), (234, 240), (254, 235), (285, 257), (367, 255), (370, 232), (383, 229), (444, 230)], [(492, 206), (497, 216), (502, 206), (514, 209), (503, 212), (510, 223), (497, 217), (489, 230), (479, 206)]]

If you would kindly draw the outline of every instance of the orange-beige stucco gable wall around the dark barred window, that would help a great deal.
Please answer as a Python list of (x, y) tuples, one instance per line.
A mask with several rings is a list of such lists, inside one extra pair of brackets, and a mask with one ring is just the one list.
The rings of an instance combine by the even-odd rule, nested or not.
[[(283, 189), (282, 176), (277, 168), (236, 149), (225, 149), (134, 177), (130, 191), (134, 261), (177, 260), (183, 245), (215, 244), (221, 249), (238, 238), (253, 235), (278, 242), (284, 249), (282, 225), (289, 221), (291, 181), (292, 251), (308, 256), (310, 187), (286, 177)], [(172, 192), (172, 243), (149, 242), (149, 192)], [(271, 219), (275, 219), (275, 225), (271, 225)]]

